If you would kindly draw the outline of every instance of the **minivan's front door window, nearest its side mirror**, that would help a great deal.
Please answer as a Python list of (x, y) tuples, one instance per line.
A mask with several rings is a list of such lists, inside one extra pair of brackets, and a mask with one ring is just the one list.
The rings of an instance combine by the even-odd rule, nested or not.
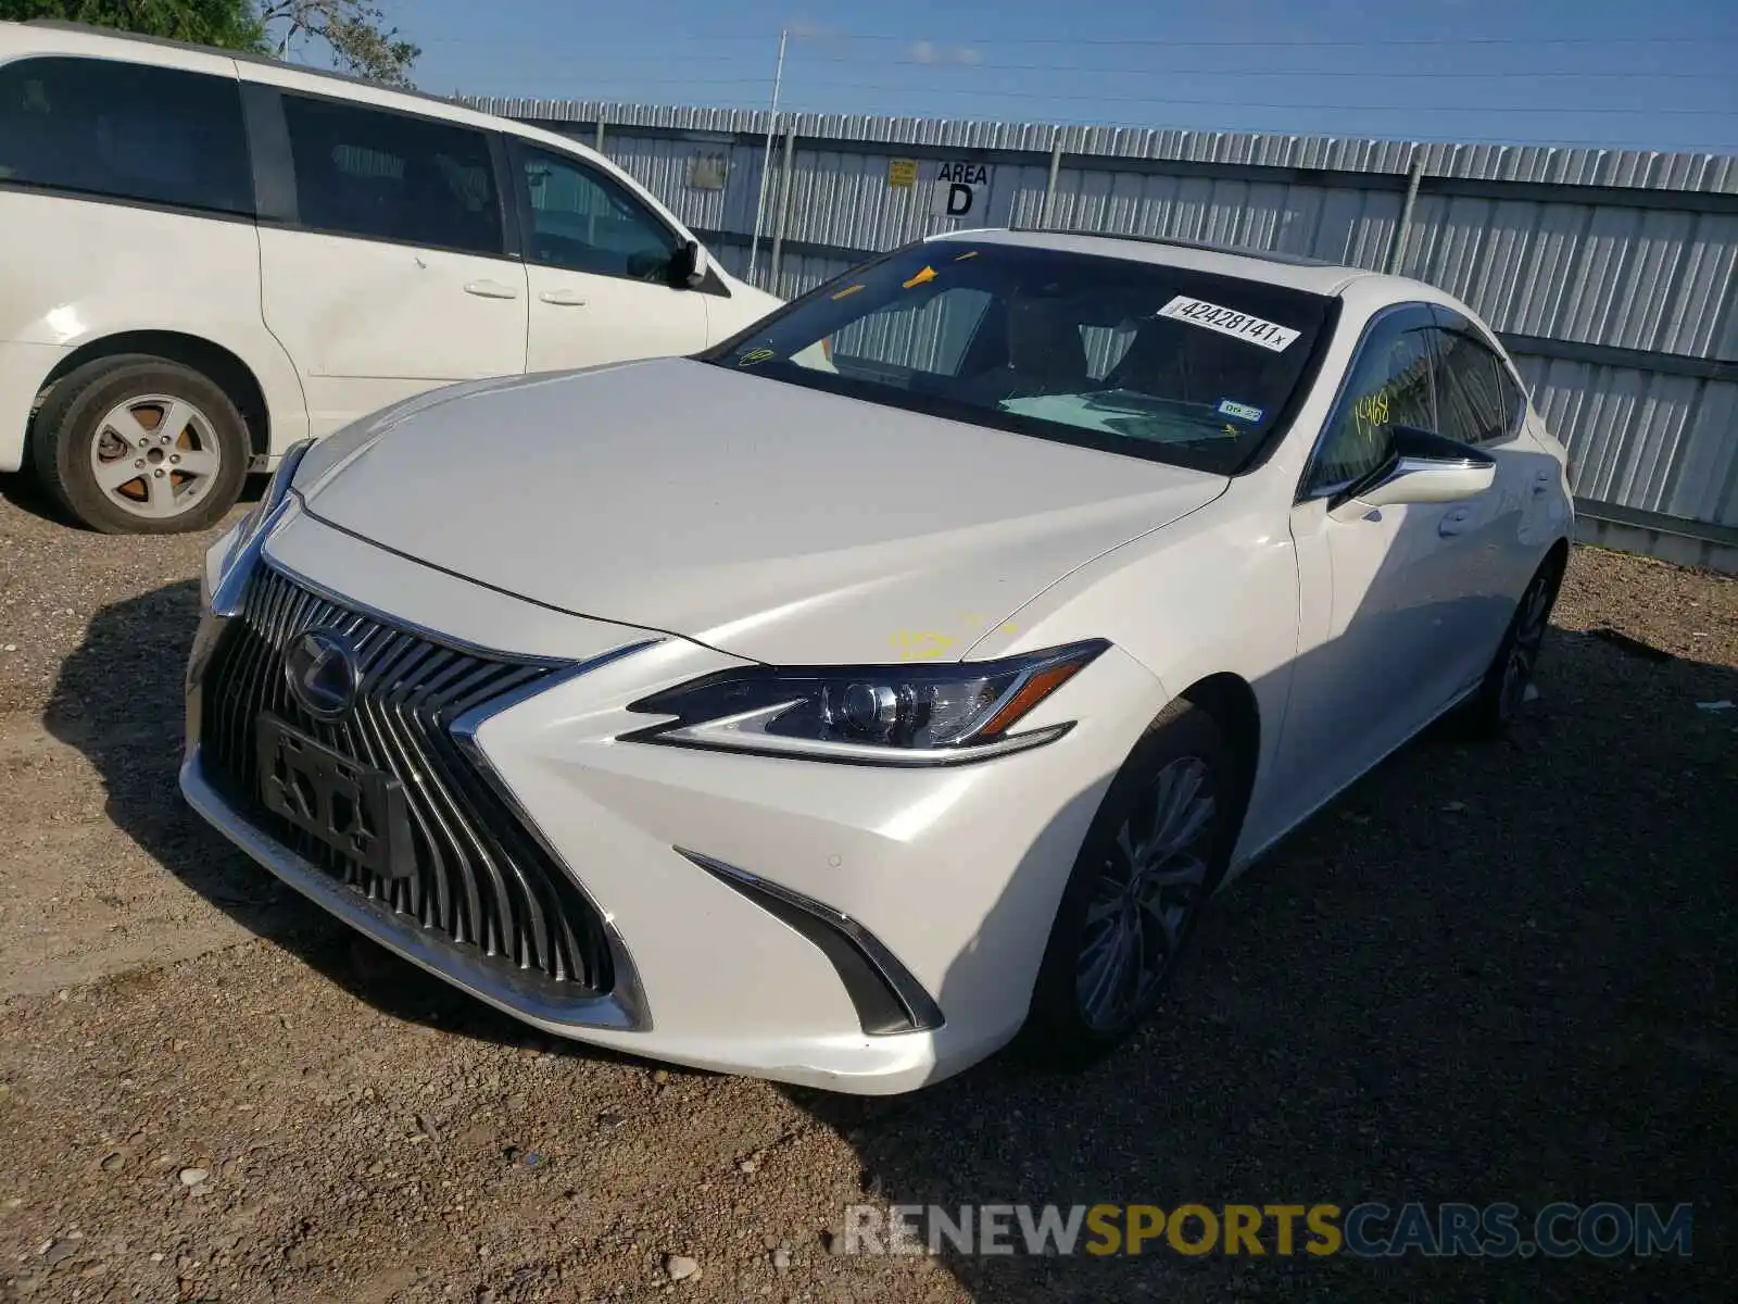
[(530, 198), (527, 259), (568, 271), (667, 282), (676, 233), (577, 158), (520, 143)]

